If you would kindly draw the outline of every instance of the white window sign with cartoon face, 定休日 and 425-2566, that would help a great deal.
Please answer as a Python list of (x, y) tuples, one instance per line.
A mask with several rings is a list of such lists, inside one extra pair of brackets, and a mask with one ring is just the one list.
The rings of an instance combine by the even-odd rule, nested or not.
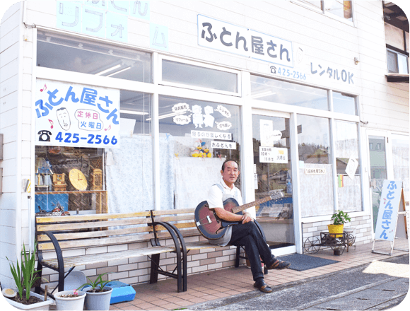
[(37, 145), (119, 147), (119, 90), (37, 79)]

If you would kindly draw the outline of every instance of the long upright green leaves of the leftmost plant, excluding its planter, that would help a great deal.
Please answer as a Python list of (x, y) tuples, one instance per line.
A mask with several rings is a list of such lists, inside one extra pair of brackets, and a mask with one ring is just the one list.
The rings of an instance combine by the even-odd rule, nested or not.
[[(37, 242), (34, 243), (34, 249), (36, 249), (36, 246)], [(11, 274), (13, 274), (14, 281), (16, 282), (20, 299), (23, 300), (23, 291), (25, 290), (25, 300), (29, 300), (30, 289), (34, 286), (35, 281), (40, 278), (39, 276), (37, 276), (37, 272), (39, 272), (40, 270), (34, 270), (35, 252), (31, 252), (30, 250), (26, 252), (25, 245), (23, 244), (23, 251), (21, 252), (21, 266), (20, 264), (18, 264), (18, 260), (17, 268), (13, 263), (10, 263), (10, 260), (8, 260), (8, 258), (7, 261), (10, 265)]]

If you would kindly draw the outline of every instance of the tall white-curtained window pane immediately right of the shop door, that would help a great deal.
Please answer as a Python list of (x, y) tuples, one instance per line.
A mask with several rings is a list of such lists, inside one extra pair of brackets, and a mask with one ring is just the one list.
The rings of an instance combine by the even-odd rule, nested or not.
[(329, 119), (298, 115), (299, 176), (302, 217), (334, 211)]

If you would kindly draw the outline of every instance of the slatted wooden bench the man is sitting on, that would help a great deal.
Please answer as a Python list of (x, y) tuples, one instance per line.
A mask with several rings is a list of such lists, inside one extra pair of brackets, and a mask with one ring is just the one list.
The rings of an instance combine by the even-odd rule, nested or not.
[[(195, 209), (172, 209), (172, 210), (166, 210), (166, 211), (151, 211), (151, 215), (153, 217), (153, 221), (156, 223), (167, 223), (170, 225), (171, 228), (175, 228), (175, 232), (179, 231), (177, 233), (178, 235), (182, 235), (184, 239), (181, 242), (181, 247), (182, 252), (188, 253), (191, 250), (206, 250), (206, 249), (211, 249), (215, 248), (218, 249), (221, 246), (219, 245), (214, 245), (209, 243), (208, 240), (204, 240), (205, 238), (202, 238), (199, 241), (195, 242), (186, 242), (185, 239), (187, 237), (194, 237), (194, 236), (201, 236), (201, 233), (199, 233), (199, 230), (197, 229), (197, 225), (195, 225), (195, 218), (194, 218), (194, 212)], [(260, 232), (264, 236), (265, 240), (266, 237), (264, 235), (264, 232), (262, 228), (260, 227), (259, 223), (255, 221), (257, 224)], [(166, 230), (165, 227), (161, 225), (156, 225), (156, 235), (158, 238), (165, 239), (165, 238), (170, 238), (170, 233), (168, 230)], [(240, 249), (242, 247), (236, 247), (236, 257), (235, 257), (235, 267), (238, 268), (240, 265), (240, 259), (246, 259), (245, 256), (240, 254)], [(184, 258), (187, 258), (185, 256)], [(183, 271), (183, 291), (187, 291), (187, 261), (182, 263), (182, 271)], [(268, 270), (264, 269), (264, 274), (268, 274)]]

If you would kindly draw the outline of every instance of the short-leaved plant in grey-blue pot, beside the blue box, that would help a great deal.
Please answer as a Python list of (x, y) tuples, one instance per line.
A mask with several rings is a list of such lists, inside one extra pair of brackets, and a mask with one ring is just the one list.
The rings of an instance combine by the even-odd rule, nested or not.
[(110, 281), (102, 281), (103, 275), (100, 274), (94, 282), (88, 278), (90, 282), (78, 288), (83, 288), (83, 291), (87, 293), (86, 310), (110, 310), (112, 288), (106, 286)]

